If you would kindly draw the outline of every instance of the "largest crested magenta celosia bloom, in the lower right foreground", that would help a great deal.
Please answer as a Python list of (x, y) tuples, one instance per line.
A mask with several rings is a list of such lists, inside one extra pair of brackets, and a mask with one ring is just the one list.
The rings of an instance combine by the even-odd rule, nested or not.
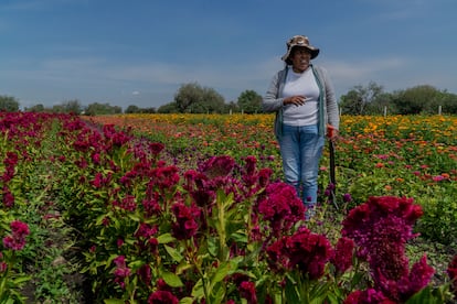
[(374, 289), (393, 301), (410, 298), (434, 273), (425, 256), (410, 271), (405, 256), (405, 243), (416, 236), (413, 225), (422, 214), (413, 199), (370, 197), (343, 220), (342, 235), (353, 239), (359, 257), (368, 260)]

